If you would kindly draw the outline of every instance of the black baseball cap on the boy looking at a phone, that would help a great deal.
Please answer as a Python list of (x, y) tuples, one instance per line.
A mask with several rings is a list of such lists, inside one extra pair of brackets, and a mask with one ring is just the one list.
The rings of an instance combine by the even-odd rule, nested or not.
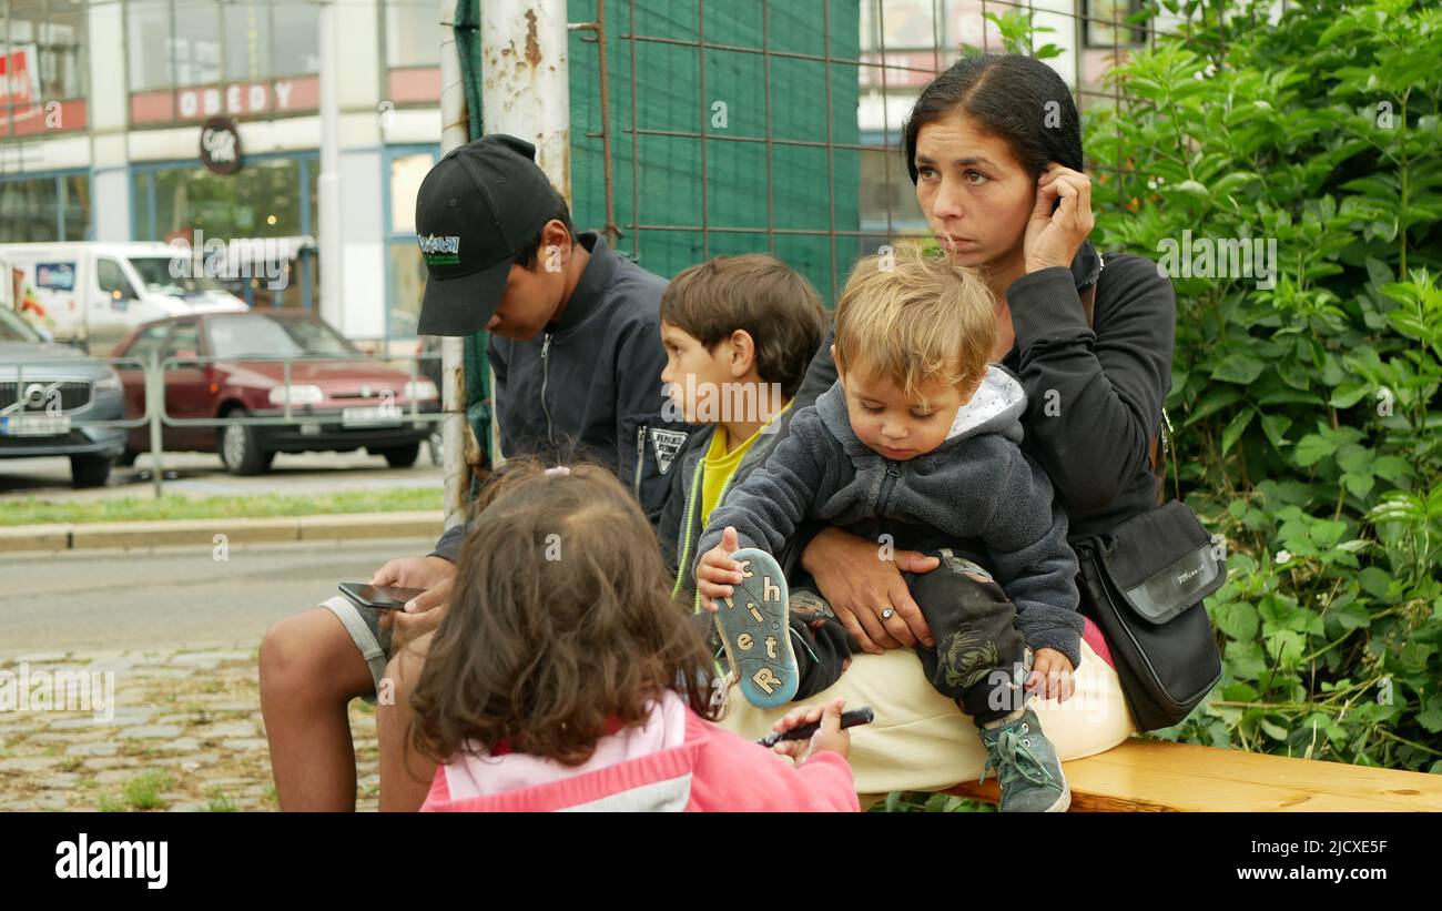
[(561, 202), (535, 159), (535, 146), (496, 133), (450, 150), (425, 174), (415, 197), (428, 272), (421, 334), (469, 336), (495, 316), (516, 249)]

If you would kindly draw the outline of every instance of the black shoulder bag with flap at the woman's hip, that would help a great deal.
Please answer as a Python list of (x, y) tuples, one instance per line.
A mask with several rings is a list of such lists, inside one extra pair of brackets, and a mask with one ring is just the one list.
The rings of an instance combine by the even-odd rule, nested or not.
[[(1089, 326), (1094, 300), (1093, 284), (1082, 295)], [(1159, 507), (1073, 542), (1082, 613), (1106, 636), (1139, 731), (1181, 722), (1221, 679), (1203, 598), (1221, 588), (1227, 565), (1191, 509), (1164, 503), (1161, 437), (1158, 430), (1149, 453)]]

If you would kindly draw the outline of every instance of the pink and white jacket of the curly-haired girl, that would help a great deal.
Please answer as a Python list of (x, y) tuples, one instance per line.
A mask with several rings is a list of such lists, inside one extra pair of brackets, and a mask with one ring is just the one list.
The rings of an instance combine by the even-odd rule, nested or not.
[(435, 770), (421, 812), (858, 812), (851, 767), (797, 767), (691, 711), (673, 692), (645, 726), (601, 738), (577, 767), (521, 752), (461, 754)]

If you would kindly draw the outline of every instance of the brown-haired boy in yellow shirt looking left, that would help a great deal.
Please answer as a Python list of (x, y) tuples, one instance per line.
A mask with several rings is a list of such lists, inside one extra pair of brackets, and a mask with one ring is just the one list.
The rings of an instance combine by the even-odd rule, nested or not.
[[(826, 323), (810, 283), (764, 254), (694, 265), (660, 297), (660, 379), (675, 411), (668, 417), (701, 430), (669, 467), (671, 496), (656, 533), (676, 569), (673, 594), (686, 592), (698, 611), (688, 571), (695, 542), (725, 492), (766, 461)], [(820, 598), (793, 598), (790, 613), (793, 647), (835, 654), (813, 650), (810, 641), (854, 643)]]

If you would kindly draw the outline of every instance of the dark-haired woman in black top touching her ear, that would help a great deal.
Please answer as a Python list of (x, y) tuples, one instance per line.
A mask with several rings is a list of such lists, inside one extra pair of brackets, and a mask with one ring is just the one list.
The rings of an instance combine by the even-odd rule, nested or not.
[[(1171, 386), (1175, 297), (1149, 259), (1109, 255), (1103, 270), (1087, 242), (1092, 183), (1066, 82), (1021, 55), (965, 58), (921, 91), (903, 137), (932, 234), (992, 291), (992, 359), (1027, 392), (1022, 448), (1050, 476), (1071, 539), (1155, 509), (1148, 450)], [(835, 379), (828, 336), (793, 414)], [(823, 693), (877, 711), (877, 724), (852, 745), (858, 790), (930, 790), (979, 777), (985, 752), (970, 721), (901, 649), (934, 646), (903, 574), (929, 572), (937, 559), (885, 548), (878, 559), (875, 541), (835, 528), (796, 542), (796, 551), (800, 572), (868, 653)], [(1066, 659), (1038, 656), (1031, 686), (1063, 760), (1107, 750), (1136, 729), (1090, 620), (1074, 673)], [(734, 693), (730, 702), (725, 724), (743, 734), (773, 719)]]

